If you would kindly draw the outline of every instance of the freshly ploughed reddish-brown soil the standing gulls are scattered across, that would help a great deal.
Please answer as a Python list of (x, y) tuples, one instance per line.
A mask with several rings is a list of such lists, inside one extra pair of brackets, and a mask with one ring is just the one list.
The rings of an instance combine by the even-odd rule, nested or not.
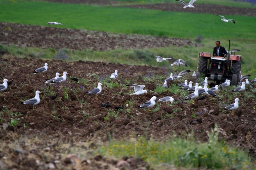
[[(45, 73), (32, 73), (34, 69), (43, 66), (44, 63), (49, 64)], [(108, 77), (114, 70), (118, 70), (118, 77), (116, 80), (109, 80)], [(48, 86), (43, 82), (54, 77), (56, 72), (62, 71), (67, 71), (70, 76), (60, 86), (50, 86), (50, 91), (58, 94), (57, 99), (51, 100), (48, 97)], [(254, 119), (255, 109), (253, 108), (256, 103), (254, 98), (246, 98), (242, 92), (237, 93), (237, 97), (241, 100), (240, 107), (234, 111), (235, 115), (231, 115), (230, 111), (220, 111), (222, 102), (234, 102), (228, 96), (225, 98), (217, 97), (216, 101), (207, 97), (205, 100), (195, 101), (195, 104), (184, 103), (179, 100), (179, 95), (176, 96), (171, 92), (163, 92), (162, 94), (153, 92), (156, 86), (162, 85), (162, 80), (156, 80), (155, 82), (143, 80), (143, 77), (154, 78), (155, 75), (168, 77), (168, 72), (164, 68), (152, 66), (129, 66), (90, 61), (70, 63), (60, 60), (42, 61), (34, 58), (0, 59), (0, 76), (2, 76), (2, 79), (6, 76), (8, 80), (14, 80), (4, 91), (3, 96), (0, 97), (0, 111), (5, 109), (3, 106), (6, 106), (7, 109), (1, 115), (2, 123), (0, 125), (2, 127), (4, 123), (10, 122), (11, 118), (19, 119), (16, 127), (9, 125), (6, 131), (0, 128), (0, 140), (6, 143), (14, 140), (18, 141), (22, 135), (26, 135), (26, 137), (41, 136), (43, 139), (43, 141), (38, 141), (39, 144), (36, 145), (34, 151), (31, 150), (31, 146), (22, 147), (23, 151), (27, 153), (22, 154), (22, 158), (19, 154), (22, 151), (4, 147), (0, 159), (11, 161), (12, 166), (6, 165), (8, 168), (14, 166), (17, 169), (26, 169), (36, 160), (42, 163), (37, 166), (46, 166), (46, 164), (54, 163), (54, 161), (60, 161), (62, 163), (59, 166), (66, 167), (70, 160), (66, 160), (65, 163), (63, 160), (65, 158), (57, 156), (59, 154), (54, 150), (65, 143), (83, 141), (92, 142), (94, 145), (99, 141), (108, 141), (108, 134), (114, 139), (137, 138), (140, 135), (146, 135), (147, 127), (148, 138), (154, 136), (154, 139), (164, 140), (171, 138), (173, 132), (182, 136), (186, 132), (194, 131), (195, 138), (203, 142), (208, 140), (206, 132), (210, 131), (215, 123), (218, 124), (221, 131), (220, 140), (224, 139), (227, 143), (254, 154), (256, 149), (256, 130), (254, 128), (256, 120)], [(70, 80), (71, 77), (78, 78), (80, 82), (76, 83)], [(86, 91), (96, 87), (99, 82), (98, 77), (107, 80), (105, 80), (102, 92), (98, 95), (98, 98), (95, 98), (94, 95), (86, 94)], [(195, 82), (191, 75), (186, 78)], [(130, 88), (124, 86), (128, 81), (131, 84), (145, 84), (148, 94), (141, 96), (140, 99), (137, 96), (128, 95)], [(110, 88), (107, 86), (108, 83), (112, 82), (118, 84), (119, 87)], [(170, 82), (168, 85), (172, 83), (177, 82)], [(256, 95), (255, 92), (252, 92), (252, 88), (255, 88), (255, 85), (251, 88), (247, 87), (246, 90)], [(36, 109), (32, 110), (32, 106), (20, 104), (20, 101), (33, 98), (36, 90), (44, 93), (43, 96), (40, 95), (41, 101)], [(65, 96), (68, 98), (65, 99)], [(136, 108), (150, 100), (152, 96), (157, 98), (173, 96), (178, 103), (172, 107), (161, 104), (156, 113), (154, 112), (156, 106), (150, 112)], [(110, 102), (112, 107), (100, 107), (103, 102), (106, 103), (107, 101)], [(127, 101), (132, 102), (133, 106), (126, 106)], [(124, 110), (117, 111), (114, 106), (122, 106)], [(127, 109), (130, 109), (130, 112)], [(107, 115), (110, 112), (115, 113), (117, 117), (108, 117)], [(18, 113), (19, 115), (13, 116), (10, 113)], [(196, 113), (198, 121), (188, 123), (195, 119), (192, 118), (194, 113)], [(54, 141), (54, 146), (45, 140)], [(75, 145), (77, 144), (75, 143)], [(40, 157), (42, 150), (46, 147), (49, 147), (51, 153), (55, 155), (51, 160)], [(32, 159), (33, 156), (36, 156), (36, 158)], [(20, 159), (27, 162), (19, 163)], [(82, 160), (79, 159), (79, 161)], [(107, 161), (110, 160), (104, 158), (104, 162)], [(96, 160), (91, 162), (89, 166), (94, 166), (96, 162)], [(74, 165), (77, 164), (72, 164), (72, 167)], [(100, 169), (103, 168), (104, 166), (100, 164)], [(134, 169), (134, 167), (130, 169)]]

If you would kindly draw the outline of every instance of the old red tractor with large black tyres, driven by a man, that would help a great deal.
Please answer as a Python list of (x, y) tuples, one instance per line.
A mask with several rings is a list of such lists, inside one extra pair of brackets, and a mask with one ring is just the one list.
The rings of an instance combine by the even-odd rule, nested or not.
[(208, 80), (216, 81), (217, 84), (225, 82), (228, 79), (231, 80), (233, 85), (238, 85), (241, 78), (241, 55), (236, 55), (236, 51), (240, 51), (240, 49), (230, 51), (229, 41), (228, 55), (226, 58), (219, 56), (211, 57), (211, 53), (199, 53), (196, 79), (198, 80), (203, 75)]

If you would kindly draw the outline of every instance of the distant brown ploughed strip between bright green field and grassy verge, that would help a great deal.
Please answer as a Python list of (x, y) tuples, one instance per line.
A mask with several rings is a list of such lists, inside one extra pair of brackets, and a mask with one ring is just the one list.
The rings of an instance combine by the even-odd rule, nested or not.
[(188, 39), (116, 34), (0, 22), (0, 44), (18, 47), (106, 51), (195, 45)]

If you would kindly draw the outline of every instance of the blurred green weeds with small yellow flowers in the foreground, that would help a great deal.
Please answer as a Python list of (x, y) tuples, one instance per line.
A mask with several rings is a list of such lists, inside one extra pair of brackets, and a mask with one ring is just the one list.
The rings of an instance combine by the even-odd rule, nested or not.
[(174, 135), (164, 142), (146, 140), (140, 137), (137, 141), (110, 141), (109, 145), (94, 150), (94, 154), (106, 157), (120, 158), (122, 156), (137, 156), (148, 162), (152, 167), (159, 167), (162, 163), (183, 168), (207, 169), (253, 169), (246, 152), (238, 150), (225, 142), (218, 141), (218, 127), (208, 132), (208, 142), (197, 143), (193, 134), (183, 139)]

